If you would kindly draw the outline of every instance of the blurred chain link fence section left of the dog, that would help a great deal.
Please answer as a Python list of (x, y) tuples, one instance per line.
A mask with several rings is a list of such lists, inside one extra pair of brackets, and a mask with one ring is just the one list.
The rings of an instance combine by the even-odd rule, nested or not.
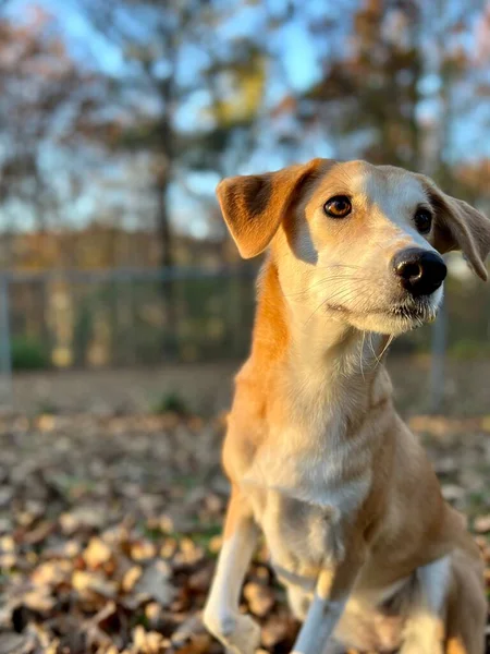
[(240, 358), (250, 337), (254, 277), (250, 268), (5, 276), (2, 368)]

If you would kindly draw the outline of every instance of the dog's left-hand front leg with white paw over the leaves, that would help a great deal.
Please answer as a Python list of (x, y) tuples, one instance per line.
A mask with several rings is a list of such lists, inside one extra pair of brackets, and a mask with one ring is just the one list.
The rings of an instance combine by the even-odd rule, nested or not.
[(260, 628), (238, 611), (240, 594), (257, 544), (258, 529), (246, 498), (232, 489), (224, 525), (223, 545), (204, 622), (230, 654), (254, 654), (260, 643)]

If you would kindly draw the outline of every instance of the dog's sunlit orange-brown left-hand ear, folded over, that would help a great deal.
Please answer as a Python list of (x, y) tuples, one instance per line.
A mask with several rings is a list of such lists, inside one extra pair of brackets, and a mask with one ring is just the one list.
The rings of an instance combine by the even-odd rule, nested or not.
[(226, 178), (218, 184), (223, 218), (244, 258), (266, 250), (301, 189), (324, 162), (313, 159), (277, 172)]

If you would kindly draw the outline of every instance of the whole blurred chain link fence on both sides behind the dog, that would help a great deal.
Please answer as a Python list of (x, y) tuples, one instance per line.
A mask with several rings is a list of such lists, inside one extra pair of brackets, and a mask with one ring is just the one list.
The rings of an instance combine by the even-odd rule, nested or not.
[[(242, 359), (248, 349), (257, 268), (12, 272), (0, 277), (0, 377), (12, 371), (100, 368)], [(434, 403), (445, 351), (490, 355), (490, 291), (450, 279), (436, 329), (395, 341), (432, 351)]]

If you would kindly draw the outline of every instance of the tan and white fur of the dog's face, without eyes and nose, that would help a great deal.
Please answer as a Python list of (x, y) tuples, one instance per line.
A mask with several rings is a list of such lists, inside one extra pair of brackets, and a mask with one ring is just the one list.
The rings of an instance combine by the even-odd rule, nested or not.
[[(352, 198), (344, 219), (326, 216), (333, 195)], [(401, 169), (365, 162), (333, 164), (306, 193), (294, 217), (284, 221), (272, 252), (283, 256), (280, 282), (293, 312), (318, 314), (363, 331), (397, 335), (433, 319), (442, 290), (414, 300), (400, 286), (392, 258), (405, 247), (434, 251), (431, 235), (414, 225), (419, 206), (429, 206), (421, 182)], [(287, 243), (291, 255), (287, 255)]]

